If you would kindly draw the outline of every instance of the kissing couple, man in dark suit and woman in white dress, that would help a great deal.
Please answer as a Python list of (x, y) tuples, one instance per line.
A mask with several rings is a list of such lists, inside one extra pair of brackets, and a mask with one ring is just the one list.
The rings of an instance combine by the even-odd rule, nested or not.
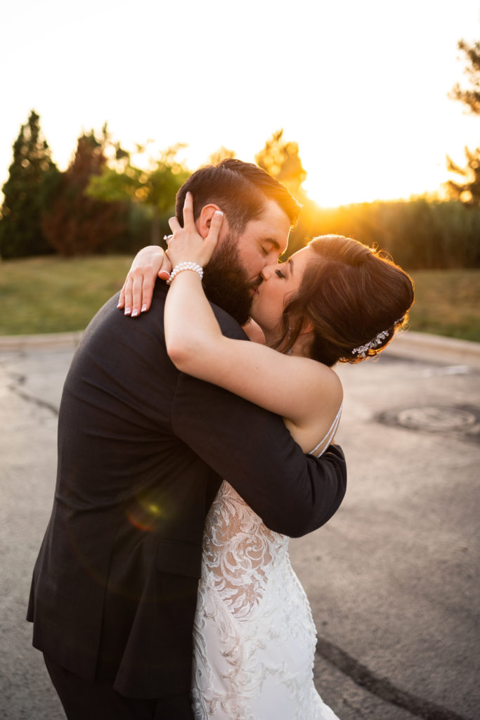
[(253, 164), (200, 168), (73, 357), (27, 615), (69, 720), (336, 717), (288, 542), (345, 494), (332, 366), (413, 290), (337, 235), (279, 264), (298, 213)]

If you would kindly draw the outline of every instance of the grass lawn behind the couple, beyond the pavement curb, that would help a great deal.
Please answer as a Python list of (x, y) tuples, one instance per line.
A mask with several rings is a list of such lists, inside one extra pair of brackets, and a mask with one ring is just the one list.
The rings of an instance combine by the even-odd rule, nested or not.
[[(58, 256), (0, 261), (0, 335), (83, 330), (122, 287), (132, 258)], [(410, 327), (480, 342), (480, 270), (412, 272)]]

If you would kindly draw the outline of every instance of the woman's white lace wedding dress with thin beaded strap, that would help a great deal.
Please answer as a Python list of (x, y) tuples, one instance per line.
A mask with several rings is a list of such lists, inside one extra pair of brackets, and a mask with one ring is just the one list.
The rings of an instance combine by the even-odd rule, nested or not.
[[(315, 454), (339, 418), (340, 410)], [(204, 531), (195, 720), (338, 720), (314, 687), (316, 631), (288, 545), (222, 482)]]

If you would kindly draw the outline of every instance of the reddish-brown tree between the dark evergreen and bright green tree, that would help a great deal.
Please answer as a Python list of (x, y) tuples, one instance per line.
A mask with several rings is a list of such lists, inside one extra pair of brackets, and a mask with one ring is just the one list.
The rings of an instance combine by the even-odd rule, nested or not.
[(85, 190), (92, 177), (107, 163), (107, 126), (97, 140), (93, 130), (78, 138), (75, 156), (61, 175), (55, 202), (42, 216), (42, 229), (62, 255), (85, 255), (104, 251), (127, 228), (127, 213), (121, 202), (101, 202)]

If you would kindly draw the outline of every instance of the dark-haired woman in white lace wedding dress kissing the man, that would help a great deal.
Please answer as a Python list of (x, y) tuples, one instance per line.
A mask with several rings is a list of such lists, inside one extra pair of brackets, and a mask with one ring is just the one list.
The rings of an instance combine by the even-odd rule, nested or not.
[[(222, 213), (201, 238), (187, 194), (184, 228), (176, 218), (170, 225), (171, 361), (281, 415), (304, 452), (322, 454), (342, 409), (331, 366), (375, 356), (405, 325), (413, 301), (409, 276), (356, 240), (315, 238), (288, 262), (262, 271), (247, 328), (256, 342), (232, 340), (222, 336), (201, 285)], [(288, 543), (222, 483), (204, 529), (194, 624), (196, 720), (337, 717), (314, 688), (316, 632)]]

